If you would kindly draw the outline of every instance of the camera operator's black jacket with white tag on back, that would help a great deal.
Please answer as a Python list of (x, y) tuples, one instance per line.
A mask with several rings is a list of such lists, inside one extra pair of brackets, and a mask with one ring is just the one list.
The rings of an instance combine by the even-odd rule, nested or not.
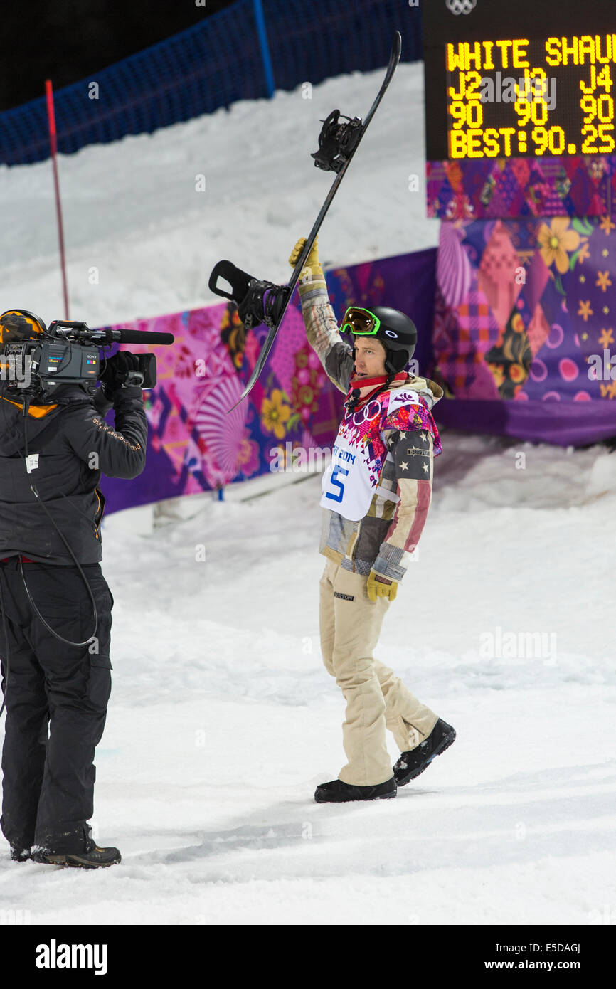
[(55, 407), (31, 407), (28, 452), (39, 454), (28, 473), (24, 414), (0, 397), (0, 559), (21, 554), (31, 560), (74, 566), (66, 546), (31, 491), (34, 482), (55, 525), (80, 564), (102, 557), (100, 524), (105, 498), (101, 474), (135, 478), (145, 465), (147, 420), (139, 388), (114, 395), (115, 429), (104, 419), (111, 407), (100, 389), (91, 397), (79, 385), (54, 396)]

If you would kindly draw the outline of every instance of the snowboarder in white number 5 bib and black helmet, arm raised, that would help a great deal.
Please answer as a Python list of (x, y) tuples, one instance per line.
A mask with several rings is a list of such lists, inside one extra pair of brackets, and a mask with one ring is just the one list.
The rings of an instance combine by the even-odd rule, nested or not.
[[(301, 238), (289, 261), (295, 265)], [(317, 245), (300, 282), (308, 341), (330, 380), (346, 395), (332, 458), (322, 481), (319, 624), (323, 663), (346, 700), (347, 764), (316, 787), (318, 803), (396, 796), (456, 737), (451, 725), (416, 699), (373, 658), (425, 524), (433, 457), (441, 452), (431, 408), (434, 382), (407, 374), (416, 328), (396, 310), (351, 307), (341, 329), (327, 295)], [(353, 346), (341, 332), (349, 333)], [(401, 755), (392, 768), (389, 728)]]

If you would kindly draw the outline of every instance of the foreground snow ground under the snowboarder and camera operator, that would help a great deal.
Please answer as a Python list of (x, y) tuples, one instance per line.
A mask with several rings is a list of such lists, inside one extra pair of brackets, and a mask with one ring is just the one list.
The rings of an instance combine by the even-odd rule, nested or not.
[[(313, 802), (345, 762), (318, 644), (318, 477), (185, 498), (192, 517), (153, 529), (150, 509), (116, 513), (95, 834), (123, 862), (19, 864), (4, 845), (7, 917), (614, 922), (616, 454), (448, 431), (443, 444), (377, 656), (456, 727), (452, 748), (396, 800)], [(486, 655), (489, 636), (526, 633), (549, 648)]]

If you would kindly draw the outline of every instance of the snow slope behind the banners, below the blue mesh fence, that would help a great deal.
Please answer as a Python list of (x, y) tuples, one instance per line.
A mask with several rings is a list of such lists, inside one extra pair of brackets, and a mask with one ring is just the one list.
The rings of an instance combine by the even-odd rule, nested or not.
[[(96, 326), (220, 302), (207, 286), (221, 258), (286, 281), (291, 249), (335, 177), (310, 158), (320, 121), (334, 107), (365, 117), (383, 74), (300, 86), (60, 155), (71, 318)], [(401, 63), (322, 227), (321, 260), (347, 265), (434, 246), (439, 222), (425, 218), (424, 169), (423, 65)], [(409, 191), (411, 174), (419, 191)], [(61, 318), (50, 161), (0, 166), (0, 212), (0, 312)]]

